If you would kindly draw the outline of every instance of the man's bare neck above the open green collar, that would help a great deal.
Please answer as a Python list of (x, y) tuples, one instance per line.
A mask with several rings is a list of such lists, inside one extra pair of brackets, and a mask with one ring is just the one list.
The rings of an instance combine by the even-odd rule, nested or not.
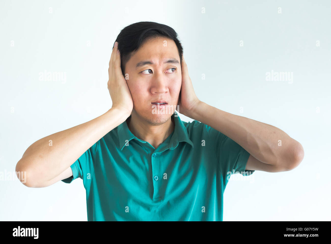
[(164, 121), (151, 121), (140, 117), (134, 110), (126, 122), (132, 134), (141, 140), (147, 141), (154, 148), (163, 143), (175, 128), (172, 117)]

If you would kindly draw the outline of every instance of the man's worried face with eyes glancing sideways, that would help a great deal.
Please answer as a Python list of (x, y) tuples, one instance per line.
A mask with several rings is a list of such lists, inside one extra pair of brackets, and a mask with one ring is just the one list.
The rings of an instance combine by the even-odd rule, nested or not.
[[(125, 74), (129, 75), (126, 82), (133, 100), (132, 114), (135, 113), (151, 124), (165, 123), (172, 115), (168, 108), (172, 106), (172, 111), (176, 109), (182, 83), (175, 42), (163, 37), (145, 42), (126, 63)], [(166, 101), (167, 106), (154, 103), (160, 100)]]

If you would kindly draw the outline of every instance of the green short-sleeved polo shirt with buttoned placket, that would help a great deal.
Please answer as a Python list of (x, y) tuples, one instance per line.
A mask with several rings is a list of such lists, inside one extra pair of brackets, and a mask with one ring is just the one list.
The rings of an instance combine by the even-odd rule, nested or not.
[(171, 116), (174, 131), (154, 148), (126, 121), (72, 165), (83, 180), (88, 221), (222, 221), (223, 193), (233, 173), (243, 176), (249, 153), (199, 121)]

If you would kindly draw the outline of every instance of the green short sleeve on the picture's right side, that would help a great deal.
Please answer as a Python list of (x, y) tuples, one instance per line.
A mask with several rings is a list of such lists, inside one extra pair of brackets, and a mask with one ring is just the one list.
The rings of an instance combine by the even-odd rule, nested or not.
[(213, 127), (205, 126), (215, 147), (219, 170), (225, 181), (224, 185), (226, 185), (228, 181), (227, 177), (231, 174), (239, 173), (243, 176), (249, 176), (255, 172), (255, 170), (246, 170), (246, 164), (250, 156), (248, 151)]

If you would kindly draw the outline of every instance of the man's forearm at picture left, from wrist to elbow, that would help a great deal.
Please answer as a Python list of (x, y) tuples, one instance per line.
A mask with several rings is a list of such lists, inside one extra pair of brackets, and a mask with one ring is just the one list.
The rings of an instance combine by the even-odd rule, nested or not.
[(29, 184), (53, 179), (127, 117), (117, 109), (110, 109), (91, 121), (46, 136), (27, 148), (16, 171), (25, 171)]

